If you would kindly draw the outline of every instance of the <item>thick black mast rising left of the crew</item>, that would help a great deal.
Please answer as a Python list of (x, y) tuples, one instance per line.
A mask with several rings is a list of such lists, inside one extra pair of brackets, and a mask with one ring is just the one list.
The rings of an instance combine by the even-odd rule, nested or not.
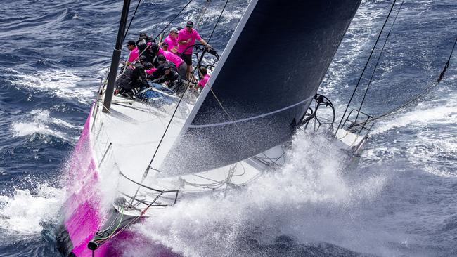
[(122, 15), (119, 24), (119, 30), (117, 31), (117, 39), (115, 49), (112, 51), (110, 73), (108, 74), (108, 85), (106, 86), (105, 99), (103, 100), (102, 112), (110, 112), (112, 93), (114, 93), (117, 68), (119, 67), (119, 61), (121, 58), (122, 41), (124, 41), (125, 25), (127, 25), (127, 16), (129, 15), (130, 0), (124, 0), (124, 6), (122, 7)]

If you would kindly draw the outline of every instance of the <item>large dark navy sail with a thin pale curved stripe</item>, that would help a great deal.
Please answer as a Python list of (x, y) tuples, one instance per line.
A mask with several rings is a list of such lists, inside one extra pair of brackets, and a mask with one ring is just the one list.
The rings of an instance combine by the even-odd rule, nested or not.
[(360, 1), (252, 0), (162, 169), (214, 169), (290, 140)]

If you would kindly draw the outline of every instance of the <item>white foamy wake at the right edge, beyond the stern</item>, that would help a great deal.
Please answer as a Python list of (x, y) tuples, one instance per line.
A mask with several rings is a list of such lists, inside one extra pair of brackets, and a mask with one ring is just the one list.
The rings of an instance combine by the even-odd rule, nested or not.
[[(446, 99), (441, 95), (446, 95)], [(456, 177), (455, 170), (446, 166), (455, 158), (457, 139), (457, 93), (441, 93), (438, 100), (425, 100), (413, 110), (401, 112), (375, 125), (372, 135), (392, 138), (392, 142), (378, 143), (366, 150), (367, 159), (384, 162), (386, 159), (406, 158), (424, 171), (437, 176)], [(405, 131), (412, 131), (406, 134)], [(414, 137), (411, 137), (413, 133)], [(408, 136), (409, 135), (409, 136)], [(408, 138), (405, 140), (404, 138)]]

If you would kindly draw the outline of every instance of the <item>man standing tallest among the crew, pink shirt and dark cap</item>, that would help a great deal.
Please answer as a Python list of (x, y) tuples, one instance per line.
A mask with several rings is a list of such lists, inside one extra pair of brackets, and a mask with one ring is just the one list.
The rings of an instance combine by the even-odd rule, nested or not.
[(191, 78), (192, 74), (192, 50), (195, 40), (200, 41), (201, 44), (205, 46), (210, 46), (200, 37), (200, 34), (192, 28), (193, 22), (188, 21), (185, 29), (181, 29), (178, 33), (178, 54), (181, 56), (181, 59), (186, 62), (187, 65), (187, 77)]

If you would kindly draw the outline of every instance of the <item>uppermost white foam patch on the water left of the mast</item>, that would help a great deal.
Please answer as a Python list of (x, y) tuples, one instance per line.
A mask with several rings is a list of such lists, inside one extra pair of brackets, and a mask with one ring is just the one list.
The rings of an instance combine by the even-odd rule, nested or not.
[[(35, 91), (46, 91), (59, 98), (76, 99), (79, 103), (91, 103), (94, 100), (96, 87), (84, 88), (76, 83), (81, 79), (71, 70), (46, 70), (28, 74), (18, 70), (7, 69), (14, 74), (11, 83), (18, 88), (32, 88)], [(96, 81), (94, 81), (96, 85)]]

